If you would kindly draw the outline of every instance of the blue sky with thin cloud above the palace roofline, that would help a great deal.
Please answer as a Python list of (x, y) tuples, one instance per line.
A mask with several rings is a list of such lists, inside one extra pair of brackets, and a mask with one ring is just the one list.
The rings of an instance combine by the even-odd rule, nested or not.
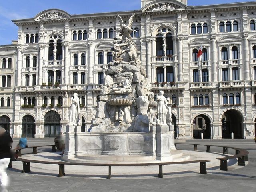
[[(188, 0), (189, 6), (246, 2), (253, 0)], [(255, 0), (256, 1), (256, 0)], [(15, 19), (34, 18), (36, 14), (57, 8), (69, 14), (139, 10), (140, 0), (0, 0), (0, 45), (18, 39)]]

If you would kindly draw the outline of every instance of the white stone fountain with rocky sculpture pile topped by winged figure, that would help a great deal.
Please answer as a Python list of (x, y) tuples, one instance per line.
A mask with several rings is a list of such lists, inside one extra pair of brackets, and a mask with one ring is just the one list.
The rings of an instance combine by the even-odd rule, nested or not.
[[(146, 156), (151, 160), (172, 161), (174, 131), (171, 124), (170, 103), (163, 92), (154, 101), (150, 80), (138, 59), (138, 50), (130, 36), (133, 14), (126, 26), (120, 19), (121, 39), (115, 38), (113, 60), (108, 64), (97, 112), (88, 132), (82, 133), (79, 123), (70, 122), (66, 132), (64, 160), (77, 161), (94, 155), (108, 155), (108, 159), (129, 159), (129, 156)], [(70, 111), (74, 110), (72, 98)], [(78, 98), (79, 99), (79, 98)], [(77, 106), (77, 110), (79, 105)], [(70, 119), (74, 117), (70, 112)], [(157, 115), (157, 116), (156, 116)]]

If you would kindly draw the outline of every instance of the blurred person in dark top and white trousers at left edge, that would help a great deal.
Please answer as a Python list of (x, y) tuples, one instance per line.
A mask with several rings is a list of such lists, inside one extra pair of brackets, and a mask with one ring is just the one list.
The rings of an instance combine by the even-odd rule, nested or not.
[(0, 127), (0, 192), (7, 192), (8, 176), (6, 169), (11, 159), (12, 138)]

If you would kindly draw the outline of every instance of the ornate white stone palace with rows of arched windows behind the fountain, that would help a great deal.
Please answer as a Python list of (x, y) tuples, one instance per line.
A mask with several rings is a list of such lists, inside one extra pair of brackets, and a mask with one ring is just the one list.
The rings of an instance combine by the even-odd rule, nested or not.
[(50, 9), (13, 20), (18, 40), (0, 46), (0, 125), (13, 137), (55, 137), (66, 131), (70, 98), (78, 93), (86, 132), (120, 38), (117, 14), (128, 23), (133, 13), (131, 36), (152, 92), (163, 90), (174, 103), (175, 137), (254, 138), (256, 2), (141, 0), (135, 11)]

